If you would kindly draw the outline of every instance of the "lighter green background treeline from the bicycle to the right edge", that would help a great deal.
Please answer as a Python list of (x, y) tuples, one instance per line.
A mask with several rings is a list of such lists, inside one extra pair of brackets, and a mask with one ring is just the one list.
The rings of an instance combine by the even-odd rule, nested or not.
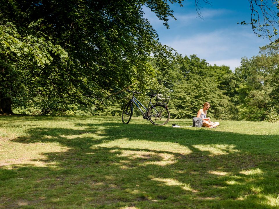
[[(203, 103), (210, 102), (208, 114), (214, 119), (276, 122), (279, 121), (278, 52), (278, 45), (260, 47), (257, 56), (242, 58), (235, 71), (228, 66), (211, 66), (196, 55), (177, 57), (168, 67), (156, 57), (149, 63), (161, 91), (171, 96), (168, 105), (171, 118), (195, 117)], [(118, 105), (102, 110), (104, 114), (121, 113)]]

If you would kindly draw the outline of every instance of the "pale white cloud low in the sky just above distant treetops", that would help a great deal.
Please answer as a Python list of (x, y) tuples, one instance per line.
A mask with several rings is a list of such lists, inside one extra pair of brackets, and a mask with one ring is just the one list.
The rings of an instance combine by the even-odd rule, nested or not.
[(173, 47), (183, 56), (196, 54), (211, 65), (230, 66), (232, 71), (240, 65), (242, 57), (257, 55), (258, 46), (265, 45), (265, 41), (251, 33), (233, 32), (233, 30), (215, 30), (191, 37), (177, 36), (172, 40), (161, 40), (161, 42)]

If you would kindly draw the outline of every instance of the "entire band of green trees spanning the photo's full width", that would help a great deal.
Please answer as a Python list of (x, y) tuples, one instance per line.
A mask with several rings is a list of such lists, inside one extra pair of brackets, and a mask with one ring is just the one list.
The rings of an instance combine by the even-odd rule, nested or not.
[(172, 3), (182, 5), (2, 1), (0, 114), (118, 116), (129, 88), (171, 96), (171, 118), (192, 118), (210, 102), (214, 119), (279, 120), (278, 45), (243, 58), (235, 71), (183, 57), (160, 43), (144, 17), (149, 8), (168, 28)]

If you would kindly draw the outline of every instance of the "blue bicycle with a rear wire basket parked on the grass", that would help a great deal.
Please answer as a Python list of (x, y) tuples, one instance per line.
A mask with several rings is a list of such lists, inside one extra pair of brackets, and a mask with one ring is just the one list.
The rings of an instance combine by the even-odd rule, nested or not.
[[(163, 98), (161, 94), (150, 94), (150, 100), (148, 103), (147, 108), (140, 103), (137, 98), (135, 98), (135, 94), (142, 94), (142, 92), (130, 91), (126, 90), (127, 92), (132, 92), (133, 96), (131, 100), (124, 106), (122, 111), (122, 122), (128, 124), (131, 120), (133, 115), (133, 104), (140, 110), (142, 113), (143, 119), (149, 120), (153, 125), (165, 125), (169, 122), (169, 110), (167, 104), (169, 102), (170, 97)], [(153, 105), (151, 99), (156, 96), (156, 104)], [(141, 109), (141, 107), (145, 109), (145, 112)]]

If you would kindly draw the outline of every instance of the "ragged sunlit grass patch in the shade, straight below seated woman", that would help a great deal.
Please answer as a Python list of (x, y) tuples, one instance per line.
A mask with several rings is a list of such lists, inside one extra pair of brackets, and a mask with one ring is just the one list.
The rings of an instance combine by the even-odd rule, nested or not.
[(226, 144), (193, 145), (193, 147), (203, 152), (209, 152), (210, 154), (208, 156), (227, 155), (230, 153), (239, 152), (239, 150), (235, 149), (235, 145)]

